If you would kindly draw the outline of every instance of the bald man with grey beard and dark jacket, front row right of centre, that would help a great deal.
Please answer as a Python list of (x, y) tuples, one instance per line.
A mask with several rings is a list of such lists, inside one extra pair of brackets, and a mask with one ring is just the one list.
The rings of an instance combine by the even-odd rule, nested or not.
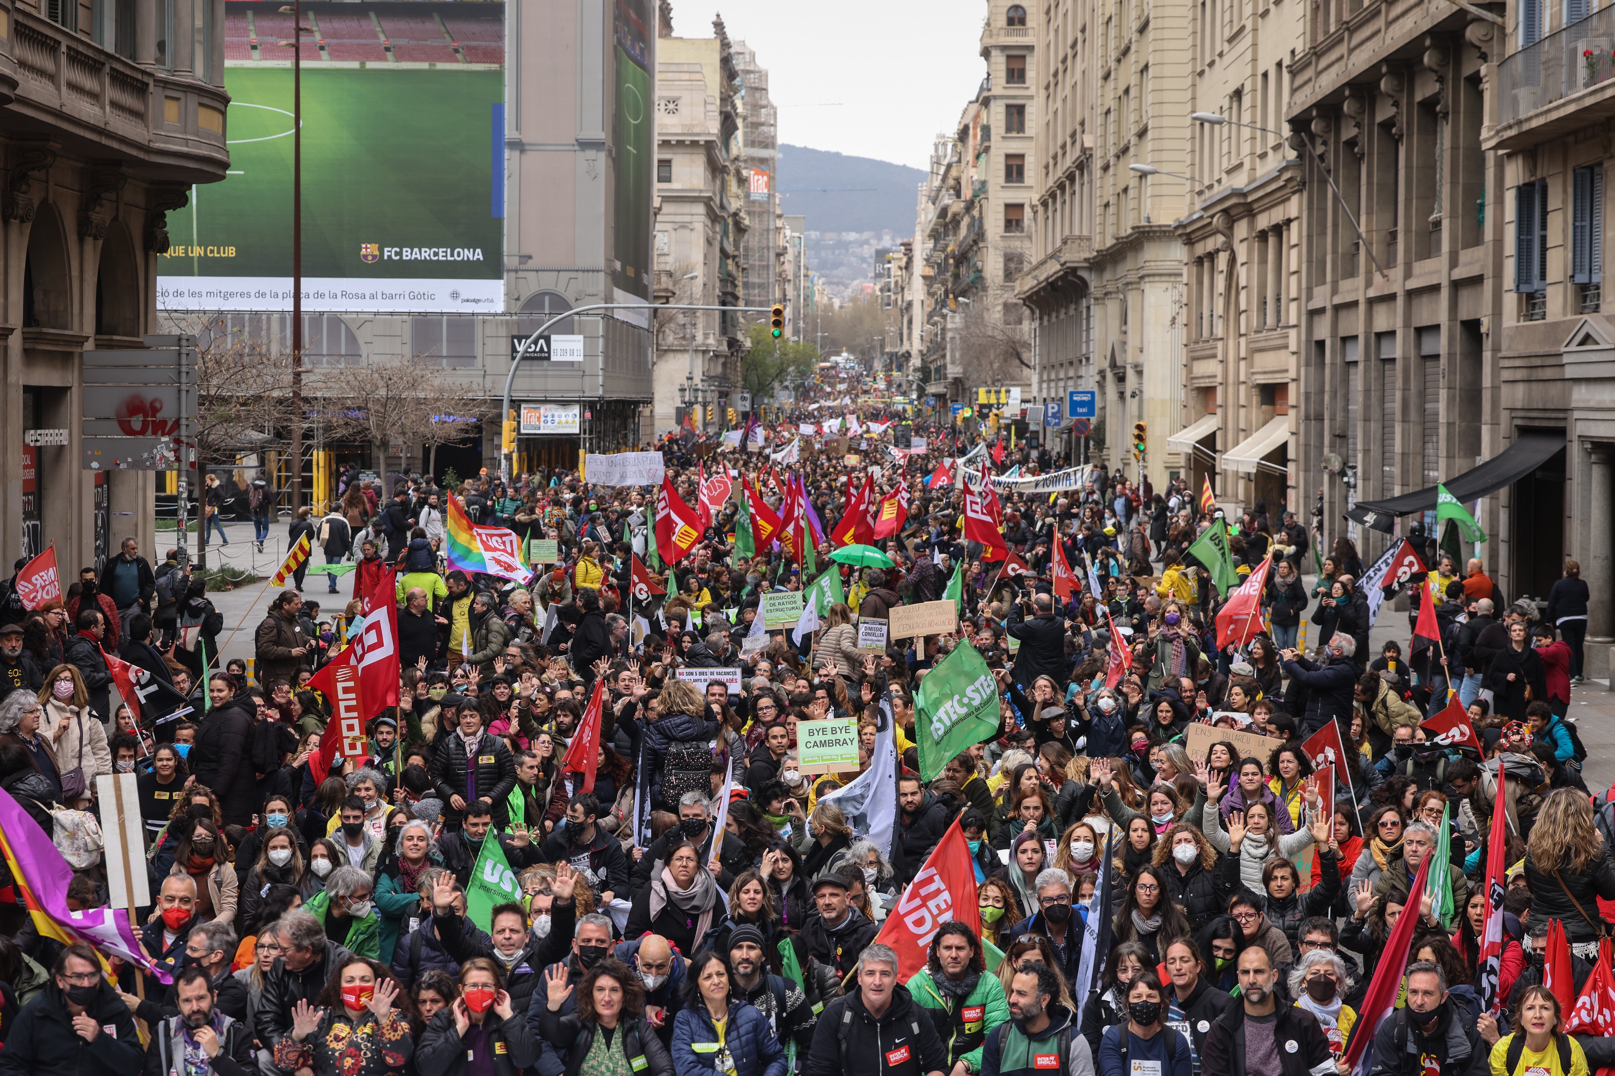
[[(1221, 1016), (1211, 1021), (1205, 1057), (1200, 1058), (1202, 1073), (1294, 1076), (1295, 1073), (1323, 1073), (1334, 1068), (1329, 1036), (1324, 1034), (1318, 1018), (1297, 1005), (1279, 1005), (1273, 994), (1277, 981), (1277, 968), (1273, 966), (1266, 949), (1252, 945), (1239, 955), (1240, 1003), (1229, 1005)], [(1408, 1005), (1412, 1003), (1413, 992), (1410, 989)], [(1391, 1026), (1391, 1021), (1386, 1026)], [(1474, 1034), (1473, 1029), (1471, 1034)], [(1381, 1070), (1378, 1057), (1374, 1070), (1403, 1071), (1395, 1063), (1389, 1070)]]

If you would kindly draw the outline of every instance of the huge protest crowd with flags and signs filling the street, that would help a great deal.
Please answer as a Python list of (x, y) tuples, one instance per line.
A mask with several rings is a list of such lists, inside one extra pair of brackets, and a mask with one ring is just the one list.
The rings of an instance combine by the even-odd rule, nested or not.
[(877, 395), (355, 476), (250, 673), (173, 553), (8, 581), (0, 1076), (1615, 1068), (1575, 561), (1544, 615)]

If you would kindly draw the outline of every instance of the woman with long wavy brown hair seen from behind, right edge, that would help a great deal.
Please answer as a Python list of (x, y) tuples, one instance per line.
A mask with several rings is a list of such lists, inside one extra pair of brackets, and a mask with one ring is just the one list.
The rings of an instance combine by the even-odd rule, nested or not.
[(1586, 792), (1554, 789), (1542, 800), (1526, 839), (1525, 878), (1536, 894), (1531, 920), (1563, 921), (1570, 950), (1591, 960), (1609, 929), (1597, 899), (1615, 900), (1615, 861)]

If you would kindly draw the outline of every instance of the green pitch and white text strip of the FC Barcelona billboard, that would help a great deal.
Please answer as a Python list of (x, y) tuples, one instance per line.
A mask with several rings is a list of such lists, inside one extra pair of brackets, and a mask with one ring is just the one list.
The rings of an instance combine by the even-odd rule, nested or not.
[[(504, 73), (302, 69), (305, 311), (504, 307)], [(166, 310), (291, 310), (292, 73), (231, 66), (229, 174), (168, 215)]]

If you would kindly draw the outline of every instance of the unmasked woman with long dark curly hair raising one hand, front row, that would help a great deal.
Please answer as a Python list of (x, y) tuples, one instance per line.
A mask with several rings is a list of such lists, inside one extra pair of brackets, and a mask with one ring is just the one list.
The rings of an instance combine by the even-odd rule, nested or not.
[(567, 978), (562, 965), (544, 973), (539, 1028), (557, 1052), (581, 1058), (577, 1071), (673, 1076), (662, 1037), (644, 1020), (638, 971), (615, 958), (599, 961), (578, 979), (577, 1011), (564, 1016), (560, 1005), (573, 992)]

